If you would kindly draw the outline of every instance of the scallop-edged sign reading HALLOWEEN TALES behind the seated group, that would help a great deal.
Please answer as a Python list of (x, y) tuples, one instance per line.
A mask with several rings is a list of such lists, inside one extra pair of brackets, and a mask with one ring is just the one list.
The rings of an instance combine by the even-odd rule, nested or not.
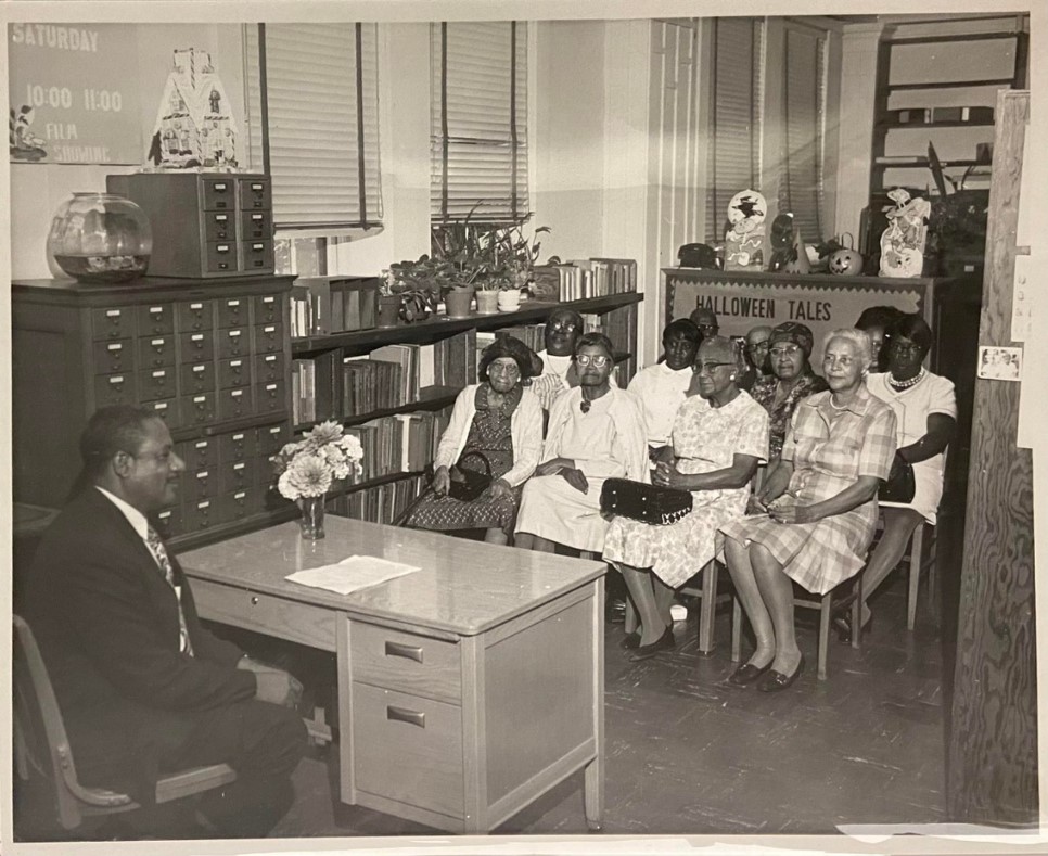
[(744, 336), (752, 328), (783, 321), (806, 324), (815, 336), (813, 362), (822, 357), (822, 341), (833, 330), (854, 327), (870, 306), (894, 306), (924, 312), (924, 280), (873, 277), (789, 277), (778, 273), (666, 271), (666, 322), (688, 318), (699, 307), (711, 309), (723, 336)]

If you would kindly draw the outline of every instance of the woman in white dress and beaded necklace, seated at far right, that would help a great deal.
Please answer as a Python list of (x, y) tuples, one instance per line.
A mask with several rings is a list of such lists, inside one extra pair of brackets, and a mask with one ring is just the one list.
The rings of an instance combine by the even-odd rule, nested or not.
[[(896, 463), (913, 465), (916, 491), (911, 502), (879, 501), (884, 532), (870, 555), (862, 578), (862, 596), (869, 598), (899, 563), (913, 529), (924, 521), (935, 524), (943, 498), (946, 446), (957, 429), (954, 384), (923, 367), (932, 347), (932, 331), (919, 315), (904, 315), (887, 330), (887, 371), (870, 374), (869, 391), (895, 411), (898, 449)], [(871, 619), (862, 605), (862, 625)], [(848, 618), (834, 619), (843, 641), (852, 640)]]

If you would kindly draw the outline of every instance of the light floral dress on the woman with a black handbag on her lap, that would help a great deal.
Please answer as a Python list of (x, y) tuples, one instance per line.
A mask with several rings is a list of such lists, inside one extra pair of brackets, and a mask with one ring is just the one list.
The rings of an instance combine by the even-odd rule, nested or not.
[[(689, 475), (724, 470), (736, 455), (766, 460), (768, 413), (744, 392), (724, 407), (692, 396), (677, 411), (673, 444), (677, 469)], [(745, 513), (749, 495), (749, 485), (693, 491), (691, 513), (667, 526), (615, 518), (604, 539), (604, 559), (650, 567), (677, 588), (714, 558), (717, 529)]]

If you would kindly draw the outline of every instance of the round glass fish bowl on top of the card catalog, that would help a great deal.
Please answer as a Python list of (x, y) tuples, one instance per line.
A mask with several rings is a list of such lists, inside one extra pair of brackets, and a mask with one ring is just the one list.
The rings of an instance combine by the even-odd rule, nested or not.
[(145, 273), (153, 252), (149, 217), (114, 193), (74, 193), (51, 220), (48, 255), (82, 282), (126, 282)]

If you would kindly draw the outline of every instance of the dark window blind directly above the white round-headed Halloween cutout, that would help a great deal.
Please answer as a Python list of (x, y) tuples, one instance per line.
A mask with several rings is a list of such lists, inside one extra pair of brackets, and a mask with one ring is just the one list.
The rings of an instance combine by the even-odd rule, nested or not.
[(761, 190), (764, 23), (715, 18), (713, 26), (712, 180), (706, 194), (706, 239), (717, 242), (724, 240), (731, 197), (747, 188)]

